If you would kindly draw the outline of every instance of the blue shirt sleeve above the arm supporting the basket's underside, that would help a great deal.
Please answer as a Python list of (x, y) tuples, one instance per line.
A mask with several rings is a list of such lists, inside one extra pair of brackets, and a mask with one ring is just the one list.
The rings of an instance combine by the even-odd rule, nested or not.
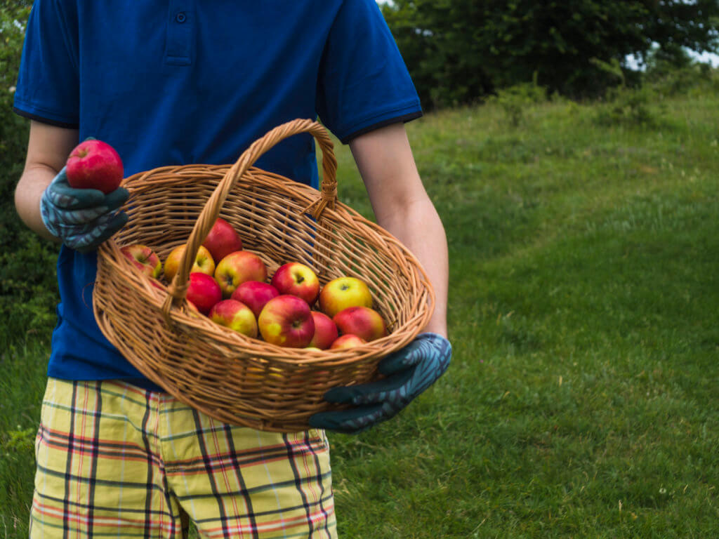
[(346, 0), (323, 52), (316, 109), (346, 144), (357, 135), (422, 115), (416, 89), (375, 0)]

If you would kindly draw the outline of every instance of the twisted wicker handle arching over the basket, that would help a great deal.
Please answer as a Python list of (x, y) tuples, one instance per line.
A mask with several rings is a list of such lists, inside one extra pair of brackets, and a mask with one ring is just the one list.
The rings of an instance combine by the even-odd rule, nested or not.
[(226, 201), (227, 195), (232, 191), (234, 185), (239, 178), (242, 178), (249, 167), (255, 164), (255, 161), (268, 149), (278, 144), (278, 142), (291, 137), (294, 134), (309, 133), (319, 143), (322, 150), (322, 183), (319, 198), (313, 202), (305, 213), (311, 213), (315, 218), (319, 218), (324, 208), (329, 206), (334, 208), (337, 199), (337, 160), (334, 157), (332, 140), (327, 134), (326, 129), (316, 121), (308, 119), (296, 119), (281, 124), (275, 129), (267, 132), (265, 136), (253, 142), (242, 155), (239, 156), (237, 162), (225, 173), (224, 178), (220, 180), (219, 185), (206, 202), (202, 209), (197, 222), (192, 229), (187, 247), (180, 260), (178, 272), (173, 277), (173, 281), (168, 286), (168, 296), (165, 303), (162, 304), (162, 313), (165, 321), (170, 323), (170, 310), (173, 305), (178, 305), (187, 293), (188, 281), (190, 279), (190, 270), (192, 269), (197, 252), (207, 234), (210, 233), (214, 222), (219, 217), (220, 208)]

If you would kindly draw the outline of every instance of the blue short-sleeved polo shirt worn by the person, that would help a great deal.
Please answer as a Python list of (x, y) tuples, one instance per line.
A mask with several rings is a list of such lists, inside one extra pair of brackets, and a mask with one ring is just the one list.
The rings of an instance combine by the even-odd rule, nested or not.
[[(122, 156), (126, 175), (226, 164), (273, 127), (319, 119), (343, 143), (421, 116), (375, 0), (35, 0), (14, 107)], [(257, 166), (318, 185), (313, 139), (280, 142)], [(62, 247), (48, 374), (157, 389), (102, 335), (96, 254)]]

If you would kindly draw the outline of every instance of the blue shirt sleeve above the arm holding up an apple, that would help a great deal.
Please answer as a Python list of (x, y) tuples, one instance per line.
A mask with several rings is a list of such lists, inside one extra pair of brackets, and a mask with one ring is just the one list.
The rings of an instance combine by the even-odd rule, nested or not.
[(74, 2), (35, 0), (22, 48), (14, 110), (47, 124), (79, 122), (78, 24)]

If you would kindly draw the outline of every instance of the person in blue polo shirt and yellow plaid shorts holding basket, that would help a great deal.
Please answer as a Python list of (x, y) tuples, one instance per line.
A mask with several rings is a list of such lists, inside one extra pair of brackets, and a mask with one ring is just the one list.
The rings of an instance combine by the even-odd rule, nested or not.
[[(35, 0), (14, 108), (30, 121), (20, 218), (61, 245), (60, 303), (37, 434), (32, 537), (96, 534), (336, 537), (326, 430), (392, 418), (449, 364), (446, 235), (404, 124), (422, 115), (374, 0)], [(381, 382), (329, 390), (346, 410), (300, 433), (206, 417), (134, 369), (94, 320), (96, 247), (127, 221), (123, 188), (70, 188), (63, 169), (95, 137), (125, 175), (234, 162), (255, 139), (318, 118), (349, 144), (377, 223), (416, 255), (436, 292), (429, 325), (384, 359)], [(313, 139), (256, 165), (317, 187)]]

